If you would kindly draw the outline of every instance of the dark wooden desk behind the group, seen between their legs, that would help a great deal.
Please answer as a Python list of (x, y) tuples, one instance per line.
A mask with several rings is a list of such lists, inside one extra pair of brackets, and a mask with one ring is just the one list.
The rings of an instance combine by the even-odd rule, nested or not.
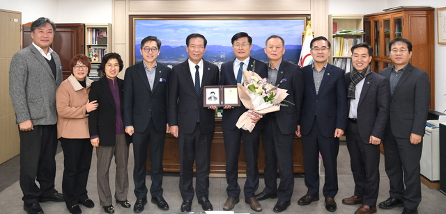
[[(180, 172), (180, 151), (178, 147), (178, 138), (171, 134), (166, 134), (164, 141), (164, 154), (162, 164), (164, 172)], [(294, 137), (293, 140), (293, 165), (294, 173), (304, 173), (304, 156), (302, 153), (301, 138)], [(262, 142), (259, 145), (259, 172), (263, 173), (265, 168), (265, 152), (263, 151)], [(151, 169), (150, 151), (147, 151), (147, 170)], [(222, 117), (215, 119), (215, 134), (210, 147), (210, 172), (222, 173), (226, 170), (226, 151), (224, 150)], [(194, 165), (195, 171), (195, 165)], [(238, 173), (246, 172), (245, 154), (243, 145), (240, 145), (240, 154), (238, 156)], [(224, 175), (223, 175), (224, 176)]]

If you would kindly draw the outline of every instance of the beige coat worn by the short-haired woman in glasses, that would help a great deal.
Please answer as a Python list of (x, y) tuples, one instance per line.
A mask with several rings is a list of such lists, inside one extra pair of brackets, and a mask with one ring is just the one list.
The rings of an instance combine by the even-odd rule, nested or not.
[(88, 77), (85, 80), (86, 88), (71, 74), (56, 91), (57, 138), (90, 138), (86, 103), (91, 80)]

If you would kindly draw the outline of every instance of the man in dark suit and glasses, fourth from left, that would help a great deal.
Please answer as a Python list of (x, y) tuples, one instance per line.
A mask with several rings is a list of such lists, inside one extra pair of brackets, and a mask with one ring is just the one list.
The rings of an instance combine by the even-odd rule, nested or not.
[(151, 158), (152, 203), (163, 211), (169, 204), (162, 197), (162, 154), (164, 139), (169, 131), (167, 124), (167, 81), (171, 69), (156, 61), (161, 41), (148, 36), (141, 41), (144, 60), (125, 70), (124, 77), (124, 126), (125, 133), (133, 140), (133, 181), (137, 201), (134, 213), (144, 211), (147, 204), (146, 161), (147, 147)]

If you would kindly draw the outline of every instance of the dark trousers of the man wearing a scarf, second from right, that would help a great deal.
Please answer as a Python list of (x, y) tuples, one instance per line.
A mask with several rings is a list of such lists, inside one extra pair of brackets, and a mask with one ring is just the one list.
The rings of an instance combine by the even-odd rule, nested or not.
[(354, 195), (363, 199), (362, 204), (376, 206), (379, 190), (379, 145), (363, 142), (357, 124), (353, 122), (348, 122), (346, 141), (355, 180)]

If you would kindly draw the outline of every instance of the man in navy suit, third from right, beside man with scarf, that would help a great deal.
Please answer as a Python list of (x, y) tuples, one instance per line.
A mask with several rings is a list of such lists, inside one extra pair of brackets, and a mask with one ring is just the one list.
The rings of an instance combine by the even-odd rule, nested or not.
[(323, 195), (325, 208), (336, 211), (334, 196), (337, 194), (337, 154), (339, 137), (344, 135), (347, 123), (347, 96), (344, 71), (327, 63), (330, 42), (320, 36), (310, 43), (314, 63), (302, 67), (305, 90), (300, 126), (296, 134), (302, 136), (307, 195), (299, 205), (319, 199), (318, 155), (321, 152), (325, 167)]

